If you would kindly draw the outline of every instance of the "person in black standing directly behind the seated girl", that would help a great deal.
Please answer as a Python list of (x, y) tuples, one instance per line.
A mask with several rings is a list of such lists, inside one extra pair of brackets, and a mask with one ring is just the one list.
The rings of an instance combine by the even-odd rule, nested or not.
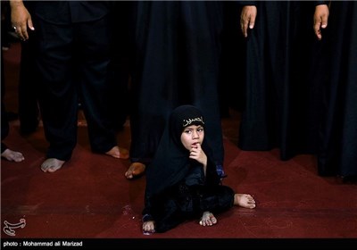
[(207, 140), (220, 175), (220, 1), (136, 1), (135, 66), (130, 111), (132, 164), (128, 179), (145, 171), (172, 108), (195, 104), (208, 121)]

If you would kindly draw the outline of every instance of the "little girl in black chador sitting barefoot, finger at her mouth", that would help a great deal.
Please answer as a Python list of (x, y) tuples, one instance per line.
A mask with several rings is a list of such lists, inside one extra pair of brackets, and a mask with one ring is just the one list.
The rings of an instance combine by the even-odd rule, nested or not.
[(154, 161), (146, 170), (143, 232), (165, 232), (201, 218), (202, 226), (217, 223), (214, 214), (233, 205), (252, 209), (253, 196), (223, 186), (212, 151), (204, 140), (203, 114), (182, 105), (170, 115)]

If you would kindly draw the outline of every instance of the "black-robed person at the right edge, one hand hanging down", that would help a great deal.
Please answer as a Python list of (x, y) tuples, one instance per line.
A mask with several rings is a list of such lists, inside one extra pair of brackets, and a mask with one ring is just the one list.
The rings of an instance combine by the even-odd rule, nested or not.
[[(320, 96), (320, 176), (357, 180), (357, 2), (316, 7), (320, 60), (313, 83)], [(329, 8), (328, 8), (329, 4)], [(322, 72), (322, 73), (321, 73)]]

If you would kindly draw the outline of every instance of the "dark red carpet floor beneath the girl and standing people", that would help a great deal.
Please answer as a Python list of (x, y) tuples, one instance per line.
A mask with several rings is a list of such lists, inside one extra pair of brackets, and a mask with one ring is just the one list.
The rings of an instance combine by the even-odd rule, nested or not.
[[(12, 71), (9, 74), (5, 71), (6, 84), (12, 85), (7, 87), (10, 93), (6, 92), (5, 99), (10, 111), (16, 108), (15, 72), (18, 71), (18, 59), (13, 58), (17, 52), (11, 50), (19, 48), (14, 45), (4, 54), (6, 69)], [(265, 246), (262, 239), (332, 238), (340, 245), (339, 240), (357, 238), (357, 186), (318, 176), (312, 155), (299, 155), (283, 162), (278, 159), (278, 150), (246, 152), (238, 149), (235, 143), (237, 115), (222, 120), (226, 151), (224, 166), (228, 173), (224, 184), (239, 193), (252, 194), (257, 207), (254, 210), (235, 207), (218, 215), (219, 223), (209, 228), (203, 228), (197, 221), (187, 221), (163, 234), (143, 235), (141, 211), (145, 176), (125, 179), (129, 160), (92, 154), (83, 123), (85, 121), (80, 121), (79, 144), (71, 161), (66, 162), (60, 171), (45, 173), (39, 168), (46, 152), (42, 127), (29, 137), (21, 137), (19, 122), (12, 121), (10, 135), (4, 142), (21, 151), (25, 161), (1, 160), (3, 241), (185, 238), (217, 239), (220, 244), (228, 244), (229, 239), (260, 239), (259, 243)], [(120, 146), (129, 148), (129, 121), (118, 134), (118, 141)], [(6, 223), (21, 222), (18, 228), (10, 230), (6, 227)], [(320, 243), (309, 240), (310, 244), (313, 242)], [(176, 248), (179, 245), (166, 246)]]

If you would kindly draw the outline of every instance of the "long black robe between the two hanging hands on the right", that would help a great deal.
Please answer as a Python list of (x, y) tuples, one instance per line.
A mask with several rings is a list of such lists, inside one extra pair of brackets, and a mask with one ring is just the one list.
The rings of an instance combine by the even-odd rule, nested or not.
[(314, 3), (255, 2), (257, 18), (246, 38), (238, 146), (243, 150), (278, 147), (283, 160), (313, 153), (307, 100)]

